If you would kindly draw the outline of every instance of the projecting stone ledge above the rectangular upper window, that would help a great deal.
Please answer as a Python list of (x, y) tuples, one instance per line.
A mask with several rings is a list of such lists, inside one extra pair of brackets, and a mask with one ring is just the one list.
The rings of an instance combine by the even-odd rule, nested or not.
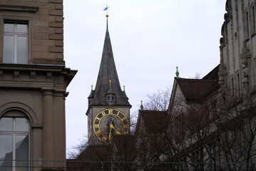
[(31, 12), (35, 13), (39, 10), (39, 7), (34, 6), (9, 6), (0, 5), (0, 11), (19, 11), (19, 12)]

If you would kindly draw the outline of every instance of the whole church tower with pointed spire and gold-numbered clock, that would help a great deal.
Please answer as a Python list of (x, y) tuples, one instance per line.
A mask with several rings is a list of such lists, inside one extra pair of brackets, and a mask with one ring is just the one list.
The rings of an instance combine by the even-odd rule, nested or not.
[(126, 135), (130, 131), (131, 105), (118, 80), (108, 32), (108, 14), (106, 17), (106, 36), (96, 88), (93, 90), (92, 86), (88, 96), (89, 145), (111, 143), (113, 135)]

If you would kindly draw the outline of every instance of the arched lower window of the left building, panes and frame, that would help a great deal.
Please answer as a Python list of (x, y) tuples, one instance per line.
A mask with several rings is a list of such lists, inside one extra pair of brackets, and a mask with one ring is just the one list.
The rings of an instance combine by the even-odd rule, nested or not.
[(0, 170), (29, 170), (29, 134), (27, 118), (0, 119)]

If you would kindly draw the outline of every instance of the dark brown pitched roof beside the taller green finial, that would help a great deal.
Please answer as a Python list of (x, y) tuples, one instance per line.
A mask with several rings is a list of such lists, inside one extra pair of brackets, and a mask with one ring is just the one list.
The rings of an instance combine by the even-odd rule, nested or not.
[(210, 93), (220, 88), (217, 80), (175, 78), (185, 100), (203, 101)]

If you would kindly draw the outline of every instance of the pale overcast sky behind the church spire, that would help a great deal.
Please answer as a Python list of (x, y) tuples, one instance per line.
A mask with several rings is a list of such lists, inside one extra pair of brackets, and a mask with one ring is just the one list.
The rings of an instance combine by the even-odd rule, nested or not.
[[(181, 78), (205, 76), (220, 63), (225, 0), (64, 0), (64, 58), (78, 70), (66, 98), (67, 150), (87, 137), (88, 95), (96, 85), (108, 30), (130, 113), (140, 100)], [(94, 87), (93, 87), (94, 89)]]

